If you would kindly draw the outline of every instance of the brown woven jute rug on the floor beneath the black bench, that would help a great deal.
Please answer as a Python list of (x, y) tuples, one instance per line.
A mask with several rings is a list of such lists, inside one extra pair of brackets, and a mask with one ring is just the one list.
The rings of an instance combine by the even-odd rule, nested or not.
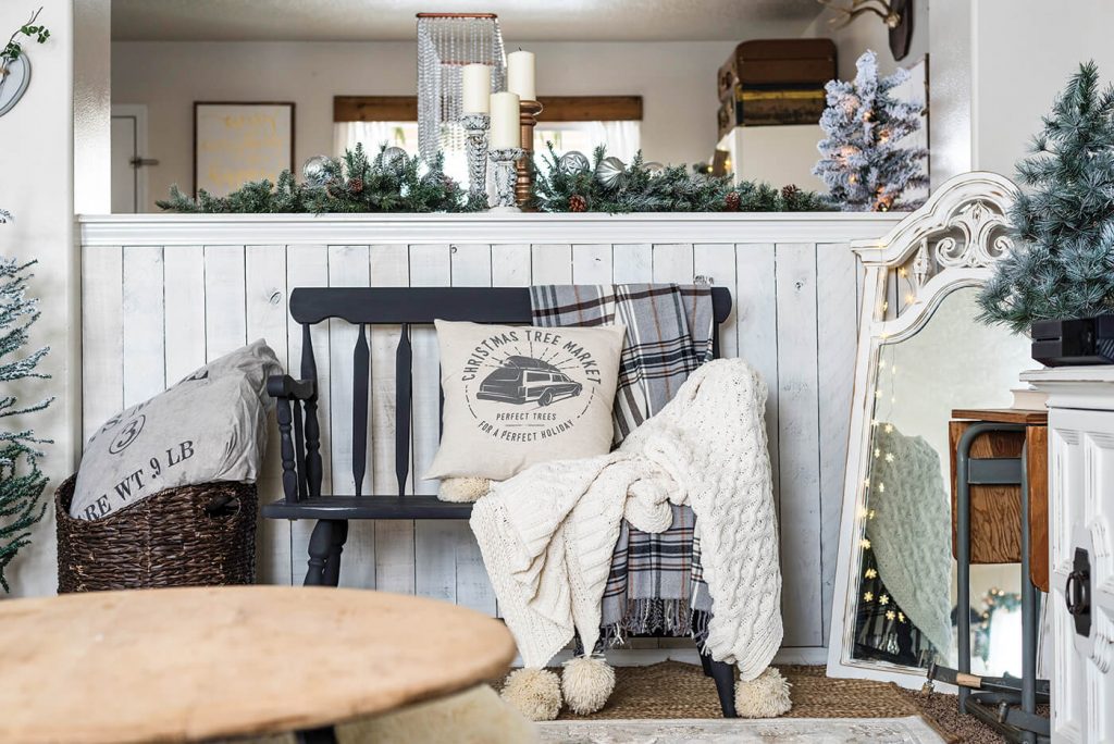
[[(778, 668), (793, 685), (791, 693), (793, 709), (778, 721), (920, 716), (936, 730), (942, 741), (949, 743), (994, 744), (1001, 741), (1000, 736), (975, 718), (960, 715), (952, 695), (913, 692), (893, 684), (866, 679), (830, 679), (824, 676), (822, 666), (783, 665)], [(576, 716), (566, 708), (561, 711), (558, 719), (719, 718), (722, 721), (723, 714), (720, 711), (715, 683), (704, 676), (700, 666), (664, 662), (649, 666), (617, 667), (615, 676), (615, 692), (602, 711), (590, 716)], [(499, 688), (498, 683), (496, 688)]]

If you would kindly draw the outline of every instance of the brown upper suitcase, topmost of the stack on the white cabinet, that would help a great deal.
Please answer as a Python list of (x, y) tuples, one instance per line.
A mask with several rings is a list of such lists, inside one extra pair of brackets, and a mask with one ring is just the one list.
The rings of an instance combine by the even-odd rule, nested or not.
[(724, 100), (736, 86), (746, 88), (822, 88), (836, 77), (831, 39), (760, 39), (744, 41), (720, 68)]

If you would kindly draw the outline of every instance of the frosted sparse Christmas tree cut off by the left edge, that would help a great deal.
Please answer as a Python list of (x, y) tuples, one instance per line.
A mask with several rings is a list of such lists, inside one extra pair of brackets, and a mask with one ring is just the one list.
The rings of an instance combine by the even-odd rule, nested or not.
[[(33, 262), (32, 262), (33, 263)], [(22, 417), (50, 405), (47, 399), (21, 405), (11, 385), (28, 378), (47, 378), (37, 371), (49, 346), (30, 354), (21, 350), (30, 340), (30, 327), (39, 320), (39, 301), (27, 296), (28, 268), (13, 258), (0, 258), (0, 419)], [(27, 428), (0, 431), (0, 586), (9, 590), (4, 569), (16, 554), (30, 544), (31, 527), (42, 518), (40, 503), (47, 478), (39, 470), (37, 449), (47, 440), (38, 439)]]

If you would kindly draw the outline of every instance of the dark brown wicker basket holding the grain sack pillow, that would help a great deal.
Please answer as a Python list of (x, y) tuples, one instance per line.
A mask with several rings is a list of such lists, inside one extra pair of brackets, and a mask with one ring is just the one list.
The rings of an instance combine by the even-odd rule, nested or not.
[(172, 488), (85, 521), (69, 515), (75, 480), (55, 495), (59, 593), (254, 581), (254, 484)]

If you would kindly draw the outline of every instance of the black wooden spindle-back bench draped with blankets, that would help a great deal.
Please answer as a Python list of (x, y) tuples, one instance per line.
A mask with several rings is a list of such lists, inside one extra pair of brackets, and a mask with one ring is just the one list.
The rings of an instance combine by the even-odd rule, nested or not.
[[(731, 313), (731, 293), (713, 287), (713, 355), (720, 356), (719, 329)], [(434, 319), (473, 323), (530, 324), (527, 287), (299, 287), (290, 295), (291, 316), (302, 326), (301, 379), (273, 376), (267, 392), (278, 409), (283, 498), (264, 505), (270, 519), (316, 519), (309, 545), (307, 586), (336, 586), (350, 519), (468, 519), (470, 503), (440, 501), (436, 496), (405, 493), (410, 476), (410, 431), (413, 378), (410, 329)], [(317, 365), (310, 331), (330, 319), (359, 326), (352, 352), (352, 478), (355, 493), (322, 493), (321, 429), (317, 423)], [(368, 326), (401, 326), (394, 353), (395, 493), (364, 495), (368, 466), (368, 407), (371, 347)], [(441, 398), (443, 404), (443, 397)], [(335, 411), (333, 412), (335, 415)], [(702, 656), (704, 670), (716, 681), (724, 715), (734, 716), (734, 669)]]

